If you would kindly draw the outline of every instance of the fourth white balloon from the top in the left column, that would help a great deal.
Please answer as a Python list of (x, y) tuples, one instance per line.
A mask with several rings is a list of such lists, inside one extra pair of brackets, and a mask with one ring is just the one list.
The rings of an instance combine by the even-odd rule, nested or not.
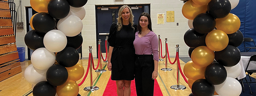
[(55, 54), (46, 48), (38, 48), (31, 55), (31, 63), (40, 70), (50, 68), (55, 62)]

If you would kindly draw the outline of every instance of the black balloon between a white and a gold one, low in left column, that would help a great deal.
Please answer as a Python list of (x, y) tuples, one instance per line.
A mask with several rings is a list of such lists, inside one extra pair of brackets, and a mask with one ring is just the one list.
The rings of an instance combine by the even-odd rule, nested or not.
[(46, 71), (47, 81), (54, 86), (64, 84), (68, 79), (68, 70), (61, 65), (53, 65)]

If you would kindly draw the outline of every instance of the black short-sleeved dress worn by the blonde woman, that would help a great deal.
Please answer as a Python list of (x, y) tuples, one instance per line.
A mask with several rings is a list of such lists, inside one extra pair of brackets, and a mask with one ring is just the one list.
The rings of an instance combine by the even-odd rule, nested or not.
[(111, 80), (133, 80), (135, 68), (135, 49), (133, 41), (137, 25), (134, 29), (129, 25), (123, 25), (117, 31), (117, 24), (112, 24), (109, 31), (109, 46), (114, 47), (111, 56)]

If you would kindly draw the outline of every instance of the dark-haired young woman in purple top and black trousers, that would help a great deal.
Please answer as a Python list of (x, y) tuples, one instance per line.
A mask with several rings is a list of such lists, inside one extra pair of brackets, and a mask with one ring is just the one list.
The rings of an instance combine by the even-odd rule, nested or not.
[[(158, 38), (152, 31), (148, 13), (141, 13), (138, 32), (133, 41), (135, 54), (135, 85), (137, 96), (153, 96), (158, 70)], [(152, 55), (153, 54), (153, 55)]]

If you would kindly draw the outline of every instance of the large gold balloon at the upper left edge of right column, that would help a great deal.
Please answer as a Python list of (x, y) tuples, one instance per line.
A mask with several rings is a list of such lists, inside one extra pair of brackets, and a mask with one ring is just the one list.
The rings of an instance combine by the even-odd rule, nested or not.
[(188, 0), (182, 7), (182, 14), (185, 18), (193, 20), (196, 15), (205, 13), (207, 11), (207, 5), (197, 5), (192, 0)]

